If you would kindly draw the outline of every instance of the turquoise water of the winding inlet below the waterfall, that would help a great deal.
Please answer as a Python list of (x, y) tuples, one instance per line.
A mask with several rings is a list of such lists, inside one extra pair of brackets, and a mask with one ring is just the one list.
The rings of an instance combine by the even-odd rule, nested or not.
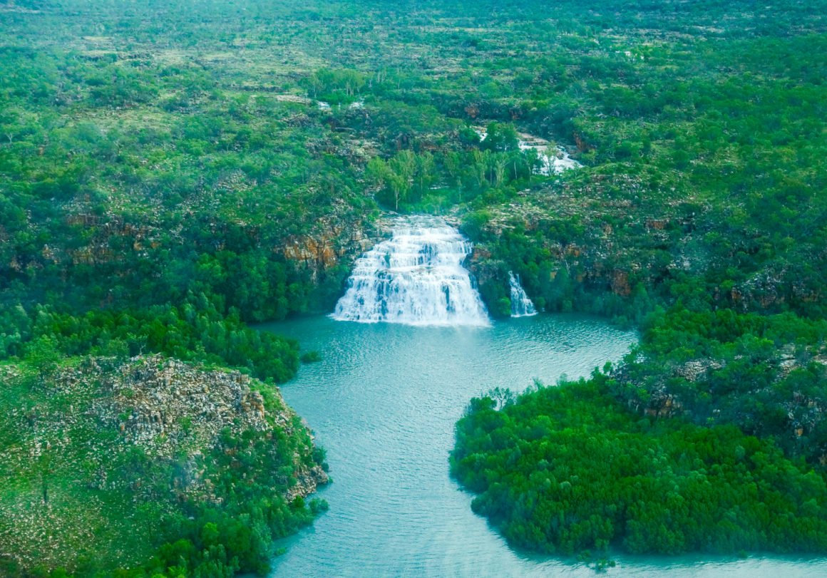
[[(265, 325), (323, 361), (284, 399), (327, 450), (330, 503), (313, 528), (280, 542), (274, 576), (595, 576), (574, 561), (514, 552), (471, 512), (448, 475), (453, 427), (495, 386), (588, 375), (635, 342), (605, 321), (538, 315), (491, 327), (409, 327), (325, 317)], [(827, 576), (827, 562), (783, 557), (616, 557), (609, 576)]]

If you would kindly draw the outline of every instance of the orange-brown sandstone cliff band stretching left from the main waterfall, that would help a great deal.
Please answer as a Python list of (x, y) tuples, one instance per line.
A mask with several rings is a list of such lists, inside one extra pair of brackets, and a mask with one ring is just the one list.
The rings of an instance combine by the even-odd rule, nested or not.
[[(216, 186), (219, 185), (222, 183)], [(239, 184), (231, 187), (234, 191), (242, 188)], [(22, 274), (56, 267), (63, 275), (71, 275), (75, 268), (91, 266), (114, 269), (113, 275), (128, 275), (141, 260), (154, 260), (158, 251), (174, 255), (184, 249), (194, 251), (194, 255), (235, 251), (236, 248), (227, 246), (227, 239), (237, 238), (241, 232), (251, 246), (284, 256), (295, 269), (308, 270), (312, 283), (323, 285), (330, 280), (325, 275), (328, 270), (337, 265), (349, 266), (380, 236), (370, 214), (358, 213), (343, 201), (334, 201), (331, 207), (324, 208), (323, 217), (297, 217), (297, 222), (286, 222), (286, 217), (282, 217), (285, 222), (273, 217), (272, 222), (264, 223), (261, 216), (259, 221), (217, 217), (202, 214), (200, 208), (187, 207), (182, 207), (177, 215), (165, 215), (161, 208), (154, 213), (127, 215), (121, 213), (122, 209), (95, 208), (88, 199), (66, 203), (61, 206), (60, 222), (65, 231), (50, 235), (53, 241), (28, 252), (2, 246), (7, 232), (0, 224), (0, 271)], [(307, 221), (302, 222), (303, 218)]]

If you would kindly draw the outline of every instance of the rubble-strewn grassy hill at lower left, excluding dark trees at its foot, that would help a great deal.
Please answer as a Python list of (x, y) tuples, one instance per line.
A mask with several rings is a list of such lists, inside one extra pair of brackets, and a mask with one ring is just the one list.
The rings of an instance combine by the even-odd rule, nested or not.
[(23, 568), (71, 569), (96, 552), (140, 561), (166, 514), (218, 507), (233, 485), (290, 501), (327, 483), (279, 389), (237, 371), (138, 356), (0, 376), (16, 400), (0, 416), (15, 440), (0, 451), (0, 556)]

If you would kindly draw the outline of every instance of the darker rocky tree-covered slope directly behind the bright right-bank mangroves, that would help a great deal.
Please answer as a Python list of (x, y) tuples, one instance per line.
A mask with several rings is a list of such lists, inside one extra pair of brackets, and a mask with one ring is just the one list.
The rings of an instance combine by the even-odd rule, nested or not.
[(619, 399), (654, 411), (668, 399), (695, 423), (771, 437), (786, 455), (823, 471), (825, 320), (676, 307), (643, 328), (638, 351), (615, 371)]

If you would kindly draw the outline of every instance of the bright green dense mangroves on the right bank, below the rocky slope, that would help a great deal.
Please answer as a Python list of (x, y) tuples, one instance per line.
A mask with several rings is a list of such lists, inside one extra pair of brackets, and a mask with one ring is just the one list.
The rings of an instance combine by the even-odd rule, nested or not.
[(514, 546), (568, 555), (825, 551), (821, 475), (734, 426), (642, 417), (607, 381), (595, 375), (510, 403), (474, 399), (457, 424), (452, 473)]

